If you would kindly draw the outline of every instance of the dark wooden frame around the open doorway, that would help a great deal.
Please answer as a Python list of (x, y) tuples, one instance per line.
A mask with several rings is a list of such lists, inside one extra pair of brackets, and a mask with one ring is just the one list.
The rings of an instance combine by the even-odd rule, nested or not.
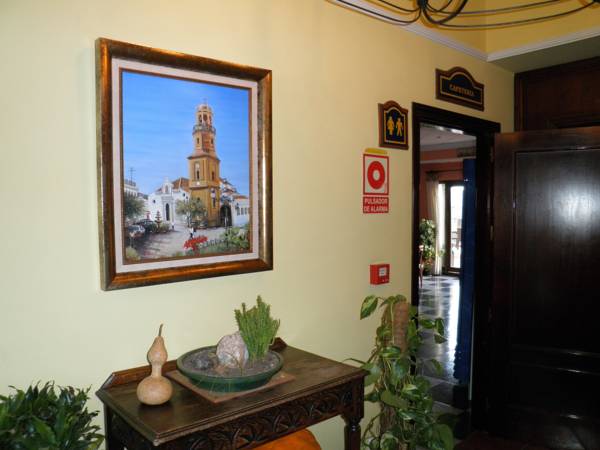
[(489, 308), (492, 275), (492, 199), (493, 199), (493, 145), (494, 134), (500, 124), (432, 106), (412, 104), (412, 158), (413, 158), (413, 233), (411, 301), (419, 305), (419, 184), (421, 164), (421, 124), (439, 125), (464, 131), (477, 138), (477, 232), (475, 265), (475, 300), (473, 302), (473, 352), (471, 373), (471, 423), (474, 428), (487, 429), (487, 395), (489, 388)]

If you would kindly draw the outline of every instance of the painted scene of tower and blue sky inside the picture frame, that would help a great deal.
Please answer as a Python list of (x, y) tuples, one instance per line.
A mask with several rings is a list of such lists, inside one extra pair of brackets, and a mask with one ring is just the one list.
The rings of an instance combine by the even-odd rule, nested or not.
[(250, 90), (122, 72), (123, 263), (251, 251)]

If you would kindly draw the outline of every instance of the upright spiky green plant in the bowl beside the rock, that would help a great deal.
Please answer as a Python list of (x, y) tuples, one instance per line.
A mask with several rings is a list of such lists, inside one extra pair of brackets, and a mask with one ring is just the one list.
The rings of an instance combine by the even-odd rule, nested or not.
[(242, 310), (235, 310), (235, 320), (248, 347), (250, 359), (265, 356), (279, 329), (279, 320), (271, 317), (271, 307), (259, 295), (256, 306), (246, 309), (246, 304), (242, 303)]

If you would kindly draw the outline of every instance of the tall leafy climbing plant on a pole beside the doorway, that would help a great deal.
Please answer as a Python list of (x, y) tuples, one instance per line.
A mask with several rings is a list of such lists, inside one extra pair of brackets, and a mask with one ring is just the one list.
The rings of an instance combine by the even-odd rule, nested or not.
[[(378, 403), (379, 413), (365, 427), (361, 441), (363, 450), (407, 450), (419, 446), (429, 450), (451, 450), (454, 446), (447, 416), (433, 411), (429, 381), (422, 375), (424, 364), (437, 371), (440, 364), (434, 359), (418, 357), (423, 342), (421, 332), (432, 330), (436, 343), (444, 338), (442, 319), (418, 318), (416, 308), (408, 308), (408, 323), (403, 343), (394, 342), (394, 308), (406, 303), (402, 295), (387, 298), (370, 295), (364, 299), (360, 318), (369, 317), (378, 305), (383, 308), (381, 325), (377, 328), (375, 347), (367, 361), (353, 359), (369, 372), (365, 386), (372, 386), (365, 401)], [(446, 423), (445, 423), (446, 422)]]

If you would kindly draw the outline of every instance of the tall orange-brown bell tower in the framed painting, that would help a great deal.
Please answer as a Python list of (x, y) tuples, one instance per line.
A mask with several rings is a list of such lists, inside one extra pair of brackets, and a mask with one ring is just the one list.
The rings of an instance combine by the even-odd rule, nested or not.
[(213, 112), (206, 102), (196, 108), (196, 123), (192, 129), (194, 151), (188, 156), (190, 191), (192, 198), (199, 198), (206, 208), (209, 227), (219, 224), (221, 207), (220, 160), (215, 150), (216, 130)]

